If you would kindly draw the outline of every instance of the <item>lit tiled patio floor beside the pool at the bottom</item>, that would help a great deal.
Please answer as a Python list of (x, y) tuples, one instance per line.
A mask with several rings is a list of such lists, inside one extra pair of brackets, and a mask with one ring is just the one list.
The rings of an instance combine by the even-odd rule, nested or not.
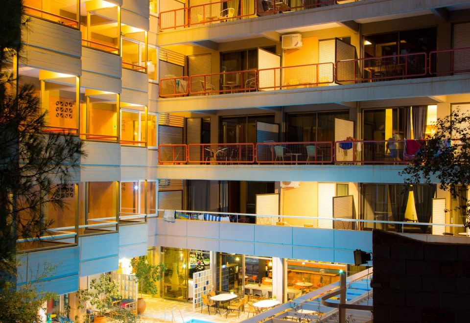
[[(207, 312), (207, 307), (204, 307), (201, 313), (201, 308), (195, 310), (192, 309), (191, 302), (181, 302), (176, 300), (164, 300), (152, 298), (150, 296), (144, 295), (145, 302), (147, 303), (147, 308), (145, 312), (141, 315), (142, 323), (152, 323), (152, 322), (171, 322), (171, 309), (174, 307), (175, 321), (176, 323), (182, 323), (183, 320), (180, 316), (183, 315), (185, 322), (188, 322), (191, 319), (202, 320), (206, 322), (214, 323), (237, 323), (247, 319), (248, 312), (241, 312), (240, 318), (238, 319), (238, 314), (231, 312), (227, 319), (225, 318), (225, 310), (222, 310), (222, 315), (214, 315), (214, 309), (211, 308), (211, 315)], [(165, 310), (166, 310), (166, 320), (165, 320)]]

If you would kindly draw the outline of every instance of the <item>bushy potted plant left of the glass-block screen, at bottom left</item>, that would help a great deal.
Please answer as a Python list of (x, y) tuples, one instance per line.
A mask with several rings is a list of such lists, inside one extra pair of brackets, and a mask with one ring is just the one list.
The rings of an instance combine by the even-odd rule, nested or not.
[(79, 300), (78, 308), (84, 308), (83, 303), (88, 302), (94, 307), (95, 323), (107, 322), (106, 313), (113, 310), (113, 301), (120, 299), (118, 283), (111, 280), (110, 275), (102, 274), (98, 279), (94, 278), (87, 289), (79, 289), (76, 292)]

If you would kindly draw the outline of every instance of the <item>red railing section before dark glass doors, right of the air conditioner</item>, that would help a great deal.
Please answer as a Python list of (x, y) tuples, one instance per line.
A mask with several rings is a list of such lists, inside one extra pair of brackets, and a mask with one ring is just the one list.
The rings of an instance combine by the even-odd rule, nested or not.
[(427, 54), (411, 53), (336, 62), (336, 82), (374, 82), (427, 74)]

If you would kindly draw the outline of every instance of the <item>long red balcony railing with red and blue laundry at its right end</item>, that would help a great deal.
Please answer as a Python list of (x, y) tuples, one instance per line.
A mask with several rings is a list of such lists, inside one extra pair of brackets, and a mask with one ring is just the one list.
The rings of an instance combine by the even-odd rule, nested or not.
[(160, 164), (409, 164), (424, 140), (161, 144)]

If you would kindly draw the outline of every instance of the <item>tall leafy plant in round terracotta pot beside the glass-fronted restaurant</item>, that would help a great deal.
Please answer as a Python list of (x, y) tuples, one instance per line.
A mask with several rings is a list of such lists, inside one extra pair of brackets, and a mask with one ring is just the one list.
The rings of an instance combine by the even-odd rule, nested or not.
[(131, 265), (141, 290), (141, 297), (137, 299), (137, 313), (141, 314), (147, 307), (142, 292), (151, 295), (158, 293), (157, 281), (162, 279), (166, 266), (163, 263), (158, 265), (149, 264), (147, 256), (132, 258)]

